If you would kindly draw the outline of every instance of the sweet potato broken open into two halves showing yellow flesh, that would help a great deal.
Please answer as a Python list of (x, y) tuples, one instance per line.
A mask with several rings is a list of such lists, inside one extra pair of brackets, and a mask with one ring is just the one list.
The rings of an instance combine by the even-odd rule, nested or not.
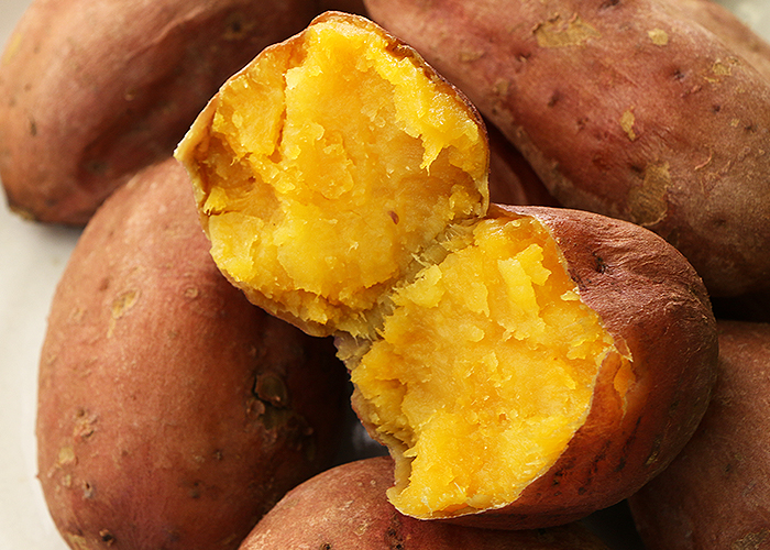
[(651, 231), (490, 208), (484, 134), (408, 46), (328, 13), (229, 80), (176, 154), (228, 278), (337, 337), (399, 512), (543, 527), (618, 502), (681, 449), (715, 321)]

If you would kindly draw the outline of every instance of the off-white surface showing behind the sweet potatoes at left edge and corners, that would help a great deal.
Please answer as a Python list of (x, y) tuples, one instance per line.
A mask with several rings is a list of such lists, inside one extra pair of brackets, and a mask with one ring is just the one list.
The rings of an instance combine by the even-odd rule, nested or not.
[[(0, 0), (0, 46), (29, 3)], [(770, 37), (770, 0), (723, 3)], [(79, 231), (23, 221), (1, 202), (0, 550), (65, 550), (35, 479), (34, 420), (48, 307)]]

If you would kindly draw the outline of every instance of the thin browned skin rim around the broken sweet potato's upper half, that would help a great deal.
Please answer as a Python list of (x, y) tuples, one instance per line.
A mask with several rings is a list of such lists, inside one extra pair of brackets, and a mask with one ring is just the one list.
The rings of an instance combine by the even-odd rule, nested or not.
[[(343, 12), (337, 12), (337, 11), (328, 11), (322, 13), (321, 15), (317, 16), (316, 19), (312, 20), (310, 25), (308, 25), (308, 29), (315, 25), (322, 25), (323, 23), (327, 22), (340, 22), (343, 24), (352, 25), (356, 29), (361, 29), (367, 32), (373, 32), (376, 36), (383, 38), (387, 43), (386, 52), (388, 55), (391, 55), (394, 59), (408, 59), (415, 67), (416, 69), (421, 73), (427, 79), (436, 86), (437, 92), (439, 95), (442, 95), (448, 98), (453, 98), (454, 101), (457, 102), (458, 106), (460, 106), (462, 109), (465, 110), (465, 114), (468, 116), (469, 120), (472, 121), (477, 131), (479, 131), (479, 136), (482, 142), (485, 156), (486, 158), (484, 160), (486, 168), (483, 169), (483, 179), (480, 179), (477, 182), (474, 182), (476, 186), (476, 191), (481, 194), (481, 204), (479, 205), (477, 212), (475, 212), (475, 216), (472, 216), (470, 219), (466, 220), (457, 220), (455, 223), (462, 224), (462, 223), (470, 223), (475, 219), (479, 215), (483, 215), (486, 209), (488, 208), (490, 199), (488, 199), (488, 136), (486, 133), (486, 125), (484, 123), (484, 120), (481, 116), (481, 113), (476, 110), (475, 106), (471, 103), (470, 100), (465, 97), (465, 95), (458, 89), (455, 86), (453, 86), (451, 82), (446, 80), (441, 75), (439, 75), (428, 63), (425, 62), (425, 59), (415, 51), (413, 47), (407, 45), (406, 43), (402, 42), (398, 40), (396, 36), (393, 34), (388, 33), (384, 29), (380, 28), (372, 21), (350, 14), (350, 13), (343, 13)], [(265, 55), (271, 55), (273, 52), (282, 52), (286, 51), (288, 48), (292, 48), (292, 54), (290, 55), (298, 55), (297, 52), (300, 51), (304, 47), (304, 34), (305, 33), (299, 33), (282, 43), (275, 44), (273, 46), (270, 46), (263, 51), (263, 53), (260, 55), (265, 56)], [(233, 75), (229, 81), (238, 79), (240, 76), (244, 76), (249, 73), (250, 66), (252, 64), (245, 66), (241, 72), (238, 74)], [(210, 128), (212, 125), (213, 118), (217, 113), (217, 110), (221, 103), (220, 96), (222, 95), (224, 88), (228, 86), (228, 82), (220, 89), (220, 92), (215, 96), (209, 103), (206, 106), (206, 108), (201, 111), (199, 117), (196, 119), (196, 121), (193, 123), (190, 127), (190, 130), (188, 131), (187, 135), (185, 139), (179, 143), (177, 146), (174, 156), (178, 158), (188, 169), (190, 177), (195, 184), (195, 195), (196, 195), (196, 201), (199, 207), (199, 212), (200, 212), (200, 222), (204, 228), (204, 232), (211, 239), (211, 232), (210, 232), (210, 220), (209, 216), (205, 212), (204, 210), (204, 204), (207, 200), (207, 193), (201, 189), (204, 185), (208, 185), (206, 182), (206, 175), (202, 173), (200, 169), (200, 166), (198, 163), (196, 163), (196, 155), (201, 154), (205, 155), (206, 151), (208, 150), (208, 143), (210, 138)], [(438, 239), (441, 239), (441, 234), (437, 235)], [(386, 295), (388, 289), (399, 283), (402, 278), (408, 278), (410, 273), (416, 272), (419, 266), (420, 266), (420, 255), (425, 254), (425, 249), (430, 248), (433, 243), (429, 242), (425, 245), (422, 250), (416, 250), (414, 251), (415, 255), (415, 261), (413, 261), (403, 271), (399, 277), (391, 278), (389, 280), (383, 282), (381, 284), (382, 288), (382, 295)], [(219, 263), (219, 262), (218, 262)], [(260, 292), (258, 289), (255, 289), (253, 287), (250, 287), (248, 284), (244, 284), (243, 282), (237, 279), (235, 277), (232, 276), (231, 273), (229, 273), (226, 268), (222, 268), (220, 265), (220, 268), (222, 270), (222, 273), (224, 276), (237, 287), (241, 288), (248, 296), (249, 300), (252, 301), (253, 304), (260, 306), (261, 308), (265, 309), (268, 311), (271, 315), (278, 317), (287, 322), (290, 322), (292, 324), (295, 324), (296, 327), (299, 327), (302, 329), (305, 332), (308, 334), (317, 336), (317, 337), (326, 337), (326, 336), (331, 336), (340, 332), (340, 328), (337, 327), (333, 322), (327, 322), (327, 323), (319, 323), (315, 322), (312, 320), (308, 320), (302, 318), (301, 315), (297, 315), (293, 311), (288, 311), (286, 308), (284, 308), (280, 304), (277, 304), (271, 296), (266, 296), (264, 293)], [(386, 300), (385, 300), (386, 301)], [(378, 323), (378, 319), (382, 317), (383, 311), (382, 310), (387, 310), (388, 305), (387, 304), (377, 304), (374, 306), (371, 311), (367, 314), (363, 314), (363, 317), (365, 317), (364, 321), (361, 324), (370, 324), (372, 327), (376, 327)], [(350, 309), (345, 309), (344, 305), (339, 306), (339, 310), (343, 311), (343, 317), (348, 316), (349, 318), (354, 318), (356, 316), (361, 316), (362, 314), (360, 311), (352, 311)], [(373, 332), (372, 330), (363, 330), (363, 332), (367, 333), (369, 336), (372, 336)]]

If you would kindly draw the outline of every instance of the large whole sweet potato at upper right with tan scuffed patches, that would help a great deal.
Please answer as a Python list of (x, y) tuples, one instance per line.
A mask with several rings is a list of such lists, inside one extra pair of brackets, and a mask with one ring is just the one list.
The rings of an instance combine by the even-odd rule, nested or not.
[(750, 63), (760, 54), (741, 56), (758, 37), (721, 41), (691, 0), (366, 7), (501, 128), (561, 205), (656, 231), (715, 296), (770, 288), (770, 78)]

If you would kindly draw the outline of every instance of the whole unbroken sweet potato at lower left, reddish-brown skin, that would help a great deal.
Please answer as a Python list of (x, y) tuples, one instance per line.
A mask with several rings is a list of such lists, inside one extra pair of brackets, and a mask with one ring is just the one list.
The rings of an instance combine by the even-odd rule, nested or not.
[(333, 345), (249, 304), (208, 246), (170, 160), (103, 205), (56, 289), (38, 477), (77, 550), (237, 548), (331, 464), (348, 397)]

